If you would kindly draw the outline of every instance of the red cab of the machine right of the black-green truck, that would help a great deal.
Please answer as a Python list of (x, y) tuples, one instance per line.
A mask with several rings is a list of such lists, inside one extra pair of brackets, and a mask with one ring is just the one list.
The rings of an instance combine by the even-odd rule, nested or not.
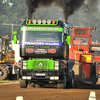
[(83, 52), (88, 54), (92, 46), (91, 40), (91, 28), (74, 27), (69, 49), (69, 59), (79, 61), (79, 57), (76, 57), (77, 54), (82, 54)]

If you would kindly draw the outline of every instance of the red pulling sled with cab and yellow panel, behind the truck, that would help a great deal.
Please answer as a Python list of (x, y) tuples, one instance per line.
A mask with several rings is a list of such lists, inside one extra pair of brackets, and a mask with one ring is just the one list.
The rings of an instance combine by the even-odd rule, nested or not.
[[(73, 70), (75, 77), (80, 81), (88, 81), (96, 84), (100, 66), (100, 56), (96, 55), (96, 49), (93, 49), (91, 31), (96, 27), (81, 28), (74, 27), (71, 36), (71, 45), (69, 49), (69, 59), (75, 59)], [(100, 45), (99, 45), (100, 46)], [(94, 51), (93, 51), (94, 50)]]

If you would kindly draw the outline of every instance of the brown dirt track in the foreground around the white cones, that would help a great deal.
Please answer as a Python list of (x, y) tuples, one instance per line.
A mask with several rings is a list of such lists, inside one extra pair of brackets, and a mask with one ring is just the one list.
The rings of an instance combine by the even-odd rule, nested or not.
[(88, 100), (90, 91), (96, 92), (96, 100), (100, 100), (100, 86), (77, 83), (74, 89), (19, 88), (18, 83), (1, 84), (0, 100), (16, 100), (23, 96), (24, 100)]

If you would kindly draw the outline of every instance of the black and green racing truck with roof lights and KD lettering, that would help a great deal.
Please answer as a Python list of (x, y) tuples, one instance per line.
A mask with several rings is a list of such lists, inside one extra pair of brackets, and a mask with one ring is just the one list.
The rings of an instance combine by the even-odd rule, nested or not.
[[(14, 43), (17, 32), (13, 32)], [(20, 88), (56, 84), (74, 87), (74, 72), (69, 60), (69, 24), (60, 20), (24, 20), (20, 34)]]

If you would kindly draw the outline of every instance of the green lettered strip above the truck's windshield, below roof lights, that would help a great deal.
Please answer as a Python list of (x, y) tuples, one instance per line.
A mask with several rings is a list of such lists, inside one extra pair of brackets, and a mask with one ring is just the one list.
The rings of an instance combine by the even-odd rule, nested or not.
[(21, 31), (53, 31), (53, 32), (63, 32), (61, 27), (21, 27)]

